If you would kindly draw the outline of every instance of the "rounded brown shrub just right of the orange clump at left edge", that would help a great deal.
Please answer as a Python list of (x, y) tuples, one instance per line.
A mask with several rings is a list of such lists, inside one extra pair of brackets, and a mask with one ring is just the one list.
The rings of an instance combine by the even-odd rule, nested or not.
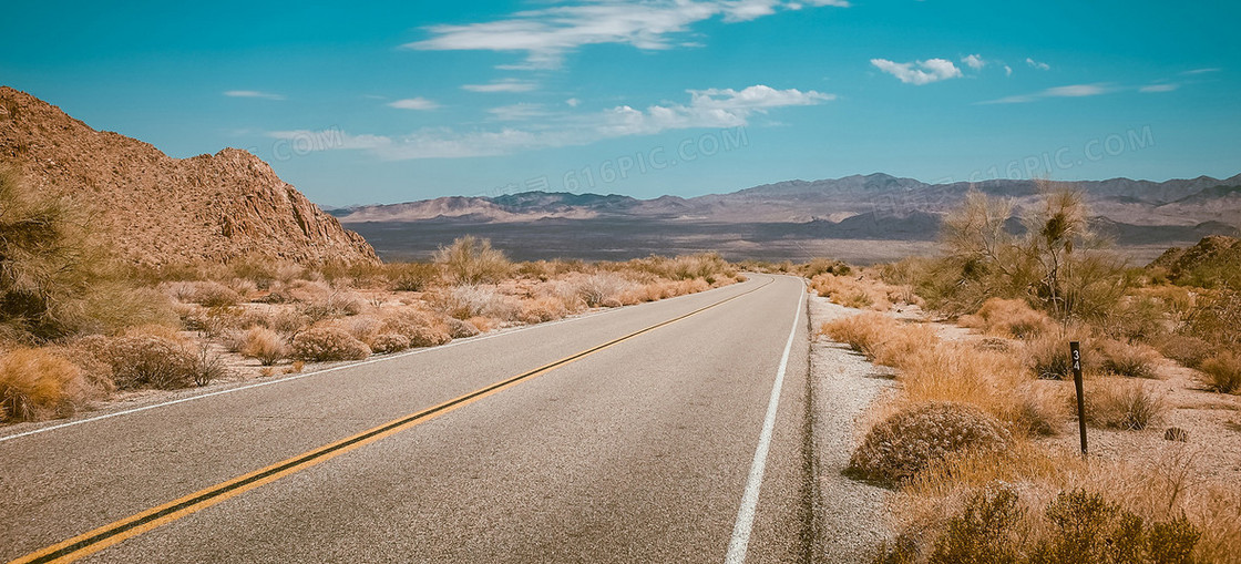
[(200, 375), (199, 352), (156, 328), (133, 330), (96, 347), (96, 354), (112, 366), (113, 380), (120, 389), (186, 388), (196, 384)]

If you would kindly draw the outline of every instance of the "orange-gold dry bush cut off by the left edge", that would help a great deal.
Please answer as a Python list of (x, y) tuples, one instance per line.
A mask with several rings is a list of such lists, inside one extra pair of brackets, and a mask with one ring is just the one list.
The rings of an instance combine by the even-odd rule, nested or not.
[(42, 349), (0, 354), (0, 421), (71, 415), (87, 396), (82, 369)]

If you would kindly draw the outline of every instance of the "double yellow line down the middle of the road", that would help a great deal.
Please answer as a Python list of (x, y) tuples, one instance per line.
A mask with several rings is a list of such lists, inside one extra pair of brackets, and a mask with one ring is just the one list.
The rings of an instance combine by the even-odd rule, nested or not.
[(668, 319), (663, 323), (656, 323), (644, 329), (635, 330), (618, 339), (609, 340), (601, 345), (596, 345), (589, 349), (582, 350), (581, 353), (565, 357), (560, 360), (556, 360), (555, 363), (545, 364), (534, 370), (517, 374), (516, 376), (498, 381), (485, 388), (480, 388), (469, 394), (444, 401), (443, 404), (436, 405), (433, 407), (428, 407), (422, 411), (388, 421), (377, 427), (354, 435), (349, 439), (344, 439), (315, 450), (307, 451), (292, 458), (277, 462), (266, 468), (256, 470), (251, 473), (238, 476), (227, 482), (222, 482), (211, 486), (208, 488), (194, 492), (182, 498), (174, 499), (163, 506), (146, 509), (141, 513), (125, 517), (124, 519), (108, 523), (103, 527), (99, 527), (88, 533), (79, 534), (62, 543), (57, 543), (51, 547), (43, 548), (41, 550), (30, 553), (25, 557), (20, 557), (15, 560), (11, 560), (10, 564), (67, 563), (77, 560), (86, 555), (97, 553), (108, 547), (118, 544), (125, 539), (143, 534), (156, 527), (171, 523), (189, 514), (206, 509), (233, 496), (248, 492), (266, 483), (274, 482), (285, 476), (290, 476), (293, 473), (307, 470), (311, 466), (326, 462), (336, 456), (344, 455), (345, 452), (352, 451), (365, 445), (370, 445), (371, 442), (379, 441), (390, 435), (395, 435), (401, 431), (412, 429), (417, 425), (421, 425), (423, 422), (431, 421), (432, 419), (436, 419), (453, 410), (464, 407), (491, 394), (496, 394), (508, 388), (515, 386), (525, 380), (530, 380), (542, 374), (547, 374), (557, 368), (572, 364), (603, 349), (616, 347), (617, 344), (633, 339), (634, 337), (653, 332), (655, 329), (670, 325), (688, 317), (696, 316), (707, 309), (722, 306), (727, 302), (737, 299), (751, 292), (757, 292), (758, 289), (766, 287), (772, 282), (774, 282), (774, 280), (767, 281), (766, 283), (758, 286), (757, 288), (748, 289), (731, 298), (721, 299), (710, 306), (689, 312), (684, 316), (679, 316), (673, 319)]

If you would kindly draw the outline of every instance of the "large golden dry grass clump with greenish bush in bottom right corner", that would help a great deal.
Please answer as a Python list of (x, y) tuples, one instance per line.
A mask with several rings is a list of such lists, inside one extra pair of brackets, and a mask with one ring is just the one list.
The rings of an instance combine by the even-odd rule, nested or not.
[[(948, 456), (891, 499), (900, 542), (882, 555), (1001, 562), (978, 552), (987, 549), (1018, 563), (1231, 562), (1241, 493), (1194, 483), (1186, 452), (1137, 467), (1026, 442)], [(1010, 496), (1000, 501), (1000, 491)]]

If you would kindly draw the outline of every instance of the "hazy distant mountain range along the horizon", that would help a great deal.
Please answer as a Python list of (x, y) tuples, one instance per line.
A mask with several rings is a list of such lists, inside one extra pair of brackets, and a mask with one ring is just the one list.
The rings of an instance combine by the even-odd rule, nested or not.
[[(1071, 183), (1095, 226), (1136, 257), (1207, 235), (1241, 234), (1241, 174), (1215, 179)], [(623, 258), (719, 250), (732, 257), (895, 258), (927, 251), (944, 214), (977, 189), (1011, 199), (1015, 215), (1037, 202), (1031, 180), (927, 184), (887, 174), (789, 180), (731, 194), (639, 200), (623, 195), (529, 191), (452, 196), (330, 210), (381, 255), (419, 257), (454, 235), (490, 235), (519, 257)], [(882, 241), (921, 243), (910, 247)], [(865, 242), (865, 243), (862, 243)]]

